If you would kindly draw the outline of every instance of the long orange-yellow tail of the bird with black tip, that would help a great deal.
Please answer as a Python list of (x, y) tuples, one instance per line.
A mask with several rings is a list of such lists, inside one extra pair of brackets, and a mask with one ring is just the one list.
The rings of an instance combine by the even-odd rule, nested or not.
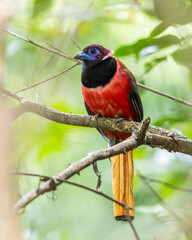
[[(134, 219), (134, 198), (133, 198), (133, 153), (119, 154), (111, 157), (113, 165), (113, 197), (125, 203), (130, 208), (129, 216)], [(117, 203), (114, 203), (114, 216), (117, 221), (128, 221), (126, 210)]]

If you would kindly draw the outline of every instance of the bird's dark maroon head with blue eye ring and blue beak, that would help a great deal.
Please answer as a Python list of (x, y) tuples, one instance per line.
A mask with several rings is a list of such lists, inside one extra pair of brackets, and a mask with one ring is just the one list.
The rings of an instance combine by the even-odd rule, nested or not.
[(77, 53), (74, 58), (82, 60), (85, 65), (96, 65), (109, 58), (114, 52), (98, 44), (91, 44)]

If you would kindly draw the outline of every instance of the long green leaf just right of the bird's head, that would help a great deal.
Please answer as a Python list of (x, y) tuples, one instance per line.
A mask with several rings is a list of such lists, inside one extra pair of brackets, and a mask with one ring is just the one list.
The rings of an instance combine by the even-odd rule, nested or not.
[[(119, 47), (115, 51), (115, 56), (119, 57), (119, 56), (127, 56), (127, 55), (135, 54), (136, 57), (138, 57), (141, 50), (147, 47), (150, 47), (150, 46), (156, 47), (156, 50), (154, 48), (154, 52), (156, 52), (157, 50), (169, 47), (174, 44), (179, 44), (179, 43), (180, 43), (180, 40), (173, 35), (166, 35), (160, 38), (153, 38), (153, 39), (144, 38), (137, 41), (134, 44)], [(142, 54), (143, 56), (153, 53), (153, 52), (150, 52), (150, 49), (148, 49), (149, 52), (147, 52), (147, 49), (145, 50), (146, 50), (146, 53)]]

